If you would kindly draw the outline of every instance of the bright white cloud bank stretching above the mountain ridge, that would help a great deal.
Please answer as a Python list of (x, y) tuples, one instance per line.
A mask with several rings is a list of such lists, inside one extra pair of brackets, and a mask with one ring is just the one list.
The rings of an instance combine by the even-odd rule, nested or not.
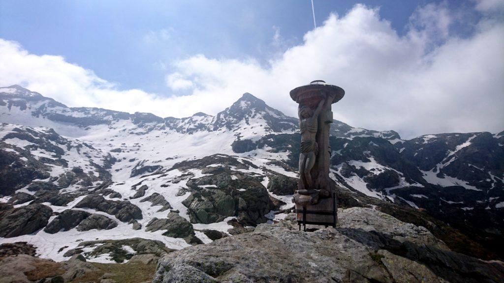
[[(502, 2), (478, 2), (470, 35), (452, 26), (460, 15), (446, 5), (419, 7), (404, 35), (379, 9), (356, 5), (332, 14), (268, 65), (254, 58), (197, 54), (172, 62), (167, 93), (122, 90), (64, 57), (36, 55), (0, 39), (0, 86), (20, 84), (69, 106), (101, 107), (183, 117), (215, 114), (250, 92), (295, 116), (288, 92), (322, 79), (343, 87), (335, 118), (354, 126), (394, 129), (405, 138), (437, 132), (498, 132), (504, 128)], [(465, 20), (465, 19), (464, 19)], [(104, 46), (103, 48), (106, 48)]]

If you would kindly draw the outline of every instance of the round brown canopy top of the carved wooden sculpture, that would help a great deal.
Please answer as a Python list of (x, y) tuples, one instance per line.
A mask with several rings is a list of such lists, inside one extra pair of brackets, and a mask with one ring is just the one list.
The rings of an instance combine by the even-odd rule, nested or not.
[(290, 97), (299, 103), (304, 99), (310, 99), (313, 96), (322, 96), (325, 93), (334, 94), (333, 103), (338, 102), (345, 95), (345, 91), (335, 85), (328, 84), (322, 80), (309, 83), (306, 86), (297, 87), (290, 91)]

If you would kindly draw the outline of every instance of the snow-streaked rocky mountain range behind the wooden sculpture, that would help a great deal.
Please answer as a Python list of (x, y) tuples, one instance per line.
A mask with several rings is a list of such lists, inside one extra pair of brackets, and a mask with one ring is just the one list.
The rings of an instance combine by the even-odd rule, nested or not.
[[(83, 239), (208, 243), (293, 205), (297, 118), (248, 93), (215, 116), (161, 118), (11, 86), (0, 88), (0, 122), (0, 243), (33, 243), (55, 260)], [(421, 208), (481, 237), (504, 232), (504, 132), (402, 140), (334, 120), (330, 145), (331, 177), (356, 201)], [(80, 252), (109, 261), (92, 251)]]

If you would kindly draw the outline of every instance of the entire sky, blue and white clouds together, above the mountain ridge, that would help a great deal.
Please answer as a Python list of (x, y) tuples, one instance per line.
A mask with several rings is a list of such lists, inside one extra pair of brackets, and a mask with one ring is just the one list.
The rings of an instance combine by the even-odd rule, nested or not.
[(0, 0), (0, 85), (175, 117), (250, 92), (294, 116), (288, 91), (324, 79), (347, 91), (335, 117), (353, 126), (504, 129), (504, 0), (314, 6), (317, 29), (309, 0)]

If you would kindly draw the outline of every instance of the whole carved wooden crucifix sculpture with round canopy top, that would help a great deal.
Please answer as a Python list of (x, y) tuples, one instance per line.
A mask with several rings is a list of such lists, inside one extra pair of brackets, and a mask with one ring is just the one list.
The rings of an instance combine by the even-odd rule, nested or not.
[[(309, 85), (298, 87), (290, 92), (298, 106), (301, 146), (299, 149), (299, 184), (294, 194), (296, 210), (302, 207), (318, 210), (335, 210), (334, 181), (329, 178), (331, 147), (329, 146), (330, 125), (333, 122), (331, 105), (343, 98), (345, 91), (324, 81), (313, 81)], [(334, 203), (334, 204), (332, 204)], [(324, 217), (314, 217), (324, 219)], [(329, 219), (329, 218), (326, 218)], [(332, 219), (332, 218), (331, 218)], [(304, 219), (305, 220), (305, 219)], [(329, 220), (328, 220), (329, 221)], [(313, 223), (327, 223), (314, 221)]]

